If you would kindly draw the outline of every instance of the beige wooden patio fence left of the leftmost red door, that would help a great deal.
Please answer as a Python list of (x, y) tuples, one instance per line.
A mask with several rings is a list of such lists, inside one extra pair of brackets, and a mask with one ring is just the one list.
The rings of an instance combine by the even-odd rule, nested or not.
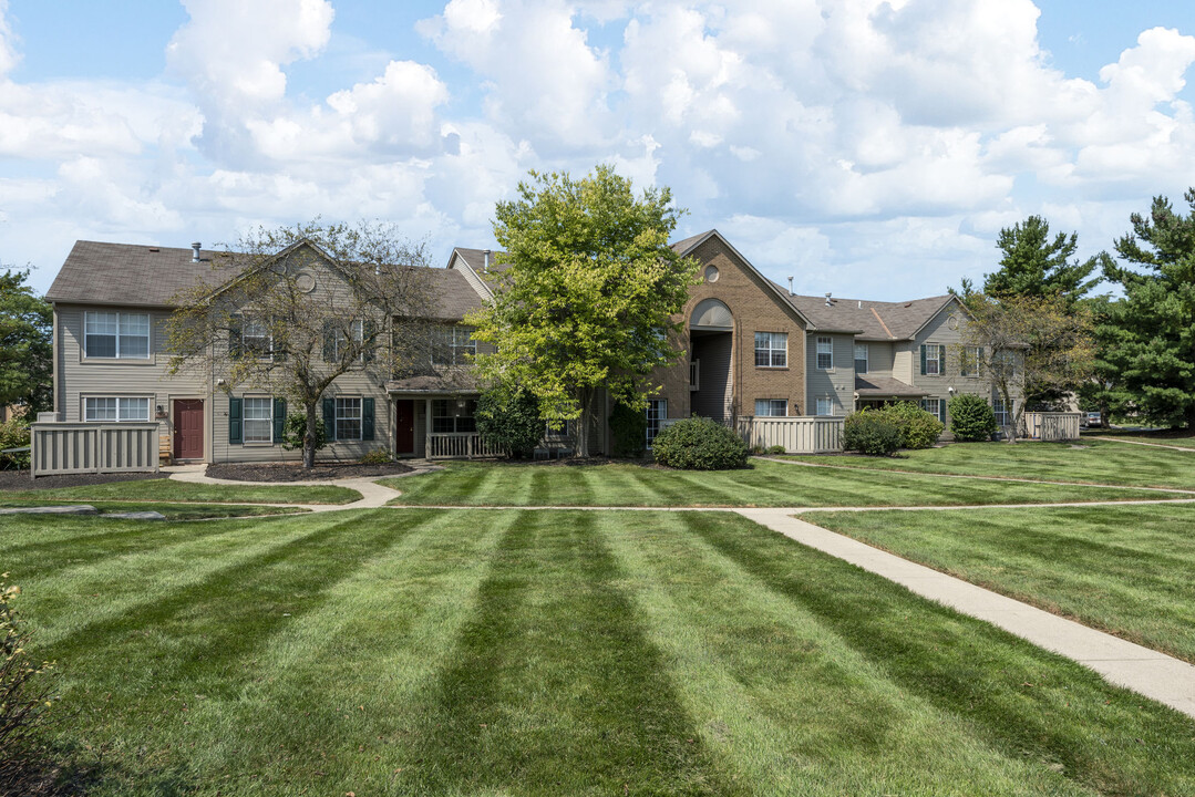
[(33, 423), (30, 446), (35, 477), (158, 472), (157, 423)]

